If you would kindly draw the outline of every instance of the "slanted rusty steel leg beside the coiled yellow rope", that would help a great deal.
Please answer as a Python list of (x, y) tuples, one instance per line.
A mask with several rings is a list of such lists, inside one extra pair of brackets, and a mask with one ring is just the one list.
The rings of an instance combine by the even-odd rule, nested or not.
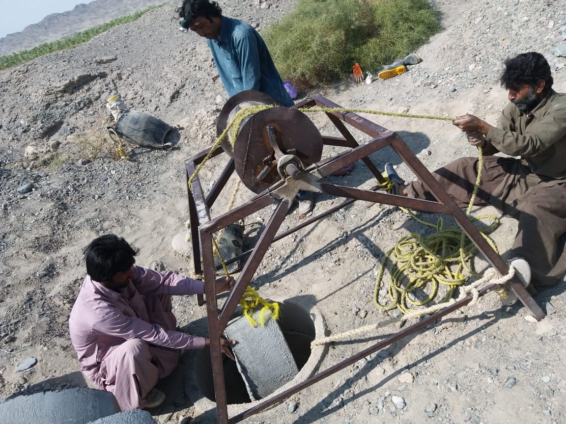
[[(469, 239), (477, 246), (478, 250), (483, 254), (487, 261), (499, 272), (499, 275), (507, 275), (509, 267), (492, 246), (487, 242), (486, 238), (474, 226), (464, 211), (456, 205), (452, 197), (441, 187), (440, 183), (432, 176), (426, 167), (418, 160), (417, 156), (407, 147), (407, 145), (399, 138), (396, 137), (392, 142), (392, 148), (395, 149), (397, 154), (401, 156), (403, 161), (409, 168), (418, 176), (419, 180), (430, 190), (434, 197), (448, 210), (448, 214), (458, 223), (458, 226), (466, 233)], [(409, 206), (411, 207), (411, 206)], [(415, 207), (414, 209), (418, 209)], [(539, 321), (546, 315), (541, 307), (535, 302), (533, 297), (525, 290), (521, 282), (516, 276), (508, 283), (509, 287), (513, 290), (515, 295), (519, 298), (523, 305), (530, 311), (533, 317)]]

